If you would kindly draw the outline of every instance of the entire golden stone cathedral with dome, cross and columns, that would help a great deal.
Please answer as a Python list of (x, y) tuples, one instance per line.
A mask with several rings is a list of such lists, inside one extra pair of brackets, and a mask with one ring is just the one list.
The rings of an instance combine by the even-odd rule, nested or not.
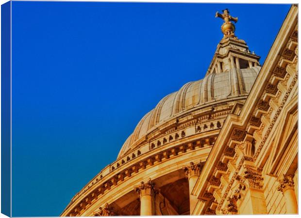
[(205, 77), (148, 112), (61, 216), (298, 213), (298, 6), (263, 66), (216, 16)]

